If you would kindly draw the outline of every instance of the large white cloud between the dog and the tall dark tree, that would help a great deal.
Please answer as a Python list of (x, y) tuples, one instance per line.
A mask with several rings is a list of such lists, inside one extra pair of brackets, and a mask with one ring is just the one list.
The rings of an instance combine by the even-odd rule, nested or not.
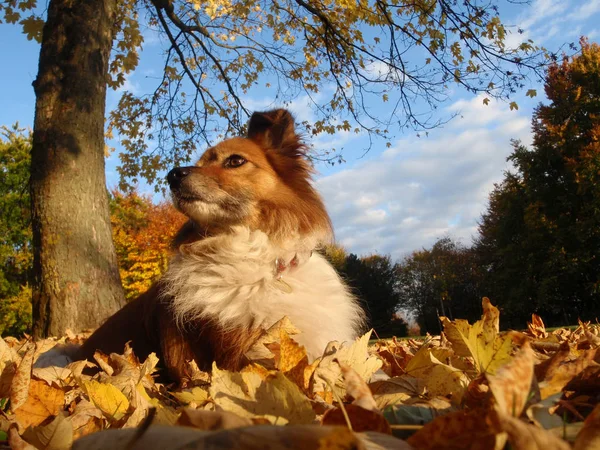
[(506, 104), (482, 107), (481, 97), (448, 110), (463, 119), (318, 179), (339, 243), (401, 258), (445, 234), (471, 242), (494, 182), (509, 168), (510, 139), (530, 140), (529, 119)]

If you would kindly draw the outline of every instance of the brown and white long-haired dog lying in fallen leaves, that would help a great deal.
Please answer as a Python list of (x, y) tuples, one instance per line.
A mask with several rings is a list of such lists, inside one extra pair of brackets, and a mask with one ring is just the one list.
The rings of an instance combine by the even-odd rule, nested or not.
[(92, 359), (130, 342), (155, 352), (168, 378), (216, 362), (239, 370), (263, 330), (287, 316), (311, 358), (330, 341), (352, 342), (364, 312), (316, 250), (332, 225), (312, 185), (307, 148), (283, 109), (252, 115), (247, 136), (206, 150), (195, 166), (171, 170), (177, 209), (189, 218), (167, 272), (77, 351)]

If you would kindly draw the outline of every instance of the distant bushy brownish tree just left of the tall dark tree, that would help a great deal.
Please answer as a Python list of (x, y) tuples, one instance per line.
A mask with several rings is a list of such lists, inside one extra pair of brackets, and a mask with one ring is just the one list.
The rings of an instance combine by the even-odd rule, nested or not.
[(421, 332), (439, 333), (439, 317), (474, 321), (481, 315), (480, 270), (469, 247), (446, 236), (398, 263), (400, 303)]

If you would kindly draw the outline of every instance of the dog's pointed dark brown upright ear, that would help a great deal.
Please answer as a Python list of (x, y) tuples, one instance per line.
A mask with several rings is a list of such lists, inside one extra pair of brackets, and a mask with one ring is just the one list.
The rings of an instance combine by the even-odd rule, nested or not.
[(298, 148), (294, 118), (285, 109), (255, 112), (248, 124), (248, 138), (264, 149), (285, 150)]

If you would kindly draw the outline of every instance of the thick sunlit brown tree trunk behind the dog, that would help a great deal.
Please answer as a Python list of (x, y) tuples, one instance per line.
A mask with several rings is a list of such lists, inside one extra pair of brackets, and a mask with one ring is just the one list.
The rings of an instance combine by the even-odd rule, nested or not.
[(98, 326), (124, 304), (104, 173), (116, 0), (51, 0), (37, 80), (33, 334)]

